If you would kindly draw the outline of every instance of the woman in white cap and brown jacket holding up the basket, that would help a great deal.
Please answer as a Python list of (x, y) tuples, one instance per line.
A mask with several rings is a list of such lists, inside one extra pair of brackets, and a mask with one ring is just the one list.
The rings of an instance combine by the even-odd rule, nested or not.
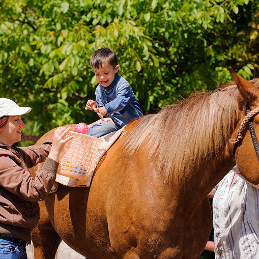
[[(18, 148), (21, 140), (21, 115), (30, 107), (19, 107), (10, 99), (0, 98), (0, 258), (26, 259), (26, 245), (40, 219), (38, 202), (48, 195), (56, 178), (59, 155), (69, 128), (57, 128), (53, 139), (40, 146)], [(28, 168), (44, 162), (36, 178)]]

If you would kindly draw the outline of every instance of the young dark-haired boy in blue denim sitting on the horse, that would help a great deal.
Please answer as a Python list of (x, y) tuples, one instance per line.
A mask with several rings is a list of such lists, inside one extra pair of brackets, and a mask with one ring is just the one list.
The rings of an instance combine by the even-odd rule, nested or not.
[(96, 111), (102, 120), (103, 116), (110, 120), (89, 128), (88, 135), (103, 136), (121, 129), (132, 119), (143, 116), (130, 84), (118, 75), (120, 66), (113, 50), (98, 49), (93, 54), (90, 64), (99, 85), (95, 91), (96, 100), (88, 100), (85, 109)]

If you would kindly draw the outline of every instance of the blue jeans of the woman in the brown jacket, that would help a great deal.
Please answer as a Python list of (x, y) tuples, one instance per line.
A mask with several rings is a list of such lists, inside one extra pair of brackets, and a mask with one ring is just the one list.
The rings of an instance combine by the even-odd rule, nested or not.
[(26, 246), (0, 239), (1, 259), (27, 259)]

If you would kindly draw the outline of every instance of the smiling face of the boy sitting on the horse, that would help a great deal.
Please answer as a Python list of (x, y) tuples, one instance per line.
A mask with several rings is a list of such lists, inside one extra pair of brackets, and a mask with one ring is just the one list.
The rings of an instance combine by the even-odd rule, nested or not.
[(114, 77), (115, 74), (118, 72), (119, 70), (119, 65), (117, 65), (114, 69), (111, 65), (109, 64), (103, 64), (102, 67), (99, 66), (99, 68), (95, 68), (95, 76), (97, 79), (97, 82), (100, 83), (103, 87), (108, 87)]

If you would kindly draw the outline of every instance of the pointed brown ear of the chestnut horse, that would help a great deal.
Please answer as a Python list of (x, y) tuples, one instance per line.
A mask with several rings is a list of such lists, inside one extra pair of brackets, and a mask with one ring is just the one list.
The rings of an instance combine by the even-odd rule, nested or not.
[(249, 102), (251, 105), (258, 106), (257, 101), (259, 99), (259, 89), (255, 87), (251, 82), (247, 81), (242, 76), (236, 74), (236, 72), (229, 67), (234, 80), (237, 84), (240, 94)]

